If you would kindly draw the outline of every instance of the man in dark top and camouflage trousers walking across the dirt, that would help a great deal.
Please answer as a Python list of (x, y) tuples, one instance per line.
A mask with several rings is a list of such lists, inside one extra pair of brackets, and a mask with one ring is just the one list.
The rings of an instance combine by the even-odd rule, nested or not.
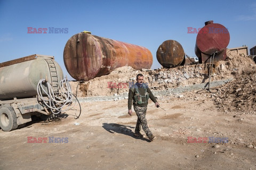
[[(146, 133), (148, 139), (153, 141), (156, 137), (152, 134), (152, 132), (148, 129), (148, 124), (146, 120), (146, 112), (147, 112), (147, 105), (148, 99), (150, 98), (156, 105), (159, 107), (155, 96), (149, 90), (147, 84), (143, 83), (143, 75), (137, 75), (137, 83), (135, 83), (129, 89), (129, 98), (128, 98), (128, 114), (132, 115), (132, 103), (135, 113), (138, 116), (135, 133), (136, 137), (143, 137), (140, 133), (141, 126), (143, 131)], [(132, 102), (133, 101), (133, 102)]]

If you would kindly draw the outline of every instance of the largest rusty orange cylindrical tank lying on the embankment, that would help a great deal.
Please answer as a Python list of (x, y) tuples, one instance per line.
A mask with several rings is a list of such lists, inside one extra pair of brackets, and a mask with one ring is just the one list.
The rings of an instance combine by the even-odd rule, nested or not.
[(153, 56), (145, 47), (84, 32), (67, 41), (63, 59), (68, 73), (78, 81), (107, 75), (122, 66), (150, 69), (153, 63)]

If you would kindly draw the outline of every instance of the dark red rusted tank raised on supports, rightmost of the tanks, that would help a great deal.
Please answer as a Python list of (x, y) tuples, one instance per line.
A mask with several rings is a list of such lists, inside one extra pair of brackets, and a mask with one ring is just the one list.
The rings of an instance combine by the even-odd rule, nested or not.
[(227, 58), (226, 48), (230, 36), (228, 29), (213, 21), (205, 22), (205, 26), (198, 32), (196, 37), (195, 53), (199, 63), (209, 63), (210, 56), (215, 54), (214, 61), (221, 61)]

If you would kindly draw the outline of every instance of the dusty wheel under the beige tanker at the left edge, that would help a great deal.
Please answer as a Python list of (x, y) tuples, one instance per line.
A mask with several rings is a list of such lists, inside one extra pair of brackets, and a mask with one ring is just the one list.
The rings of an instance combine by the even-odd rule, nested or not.
[(11, 131), (18, 128), (17, 116), (12, 107), (0, 108), (0, 127), (3, 131)]

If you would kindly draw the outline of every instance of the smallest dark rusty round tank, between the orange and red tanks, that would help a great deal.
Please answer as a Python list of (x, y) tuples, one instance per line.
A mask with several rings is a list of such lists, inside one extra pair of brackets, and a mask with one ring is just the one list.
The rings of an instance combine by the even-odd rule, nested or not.
[(157, 61), (167, 68), (178, 66), (185, 58), (185, 53), (178, 41), (166, 40), (157, 49)]

